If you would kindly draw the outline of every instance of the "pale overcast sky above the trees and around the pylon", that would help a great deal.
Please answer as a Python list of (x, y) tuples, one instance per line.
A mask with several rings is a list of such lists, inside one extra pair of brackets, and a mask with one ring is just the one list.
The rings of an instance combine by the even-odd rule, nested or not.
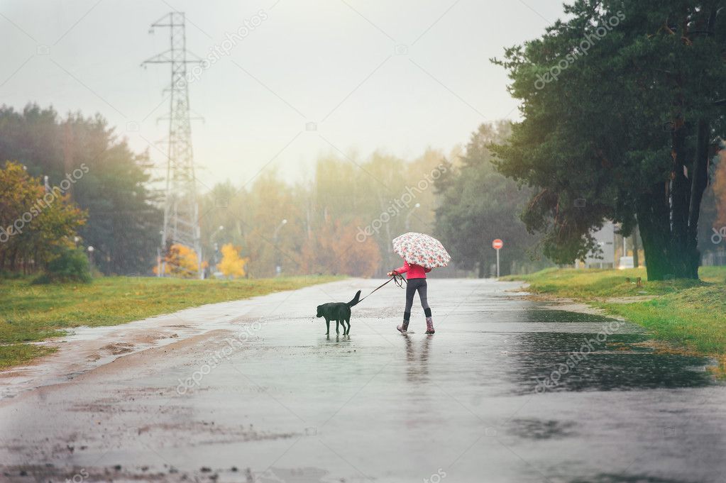
[(165, 165), (170, 69), (139, 65), (169, 48), (149, 26), (174, 10), (200, 57), (258, 24), (189, 86), (203, 191), (270, 166), (304, 178), (330, 152), (449, 152), (479, 123), (517, 117), (489, 58), (562, 16), (560, 0), (1, 0), (0, 103), (100, 112)]

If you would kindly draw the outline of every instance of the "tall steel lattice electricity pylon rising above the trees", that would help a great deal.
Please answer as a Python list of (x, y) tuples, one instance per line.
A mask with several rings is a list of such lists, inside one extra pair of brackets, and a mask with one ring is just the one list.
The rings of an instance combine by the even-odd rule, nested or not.
[[(153, 33), (156, 27), (168, 27), (171, 32), (171, 49), (142, 63), (142, 65), (171, 64), (171, 86), (168, 88), (171, 100), (168, 117), (168, 160), (161, 249), (162, 253), (166, 254), (169, 243), (194, 249), (197, 254), (199, 278), (204, 278), (187, 86), (187, 64), (197, 63), (199, 60), (187, 60), (183, 12), (164, 15), (151, 24), (149, 32)], [(162, 266), (158, 272), (159, 276), (166, 273), (166, 257), (162, 258)]]

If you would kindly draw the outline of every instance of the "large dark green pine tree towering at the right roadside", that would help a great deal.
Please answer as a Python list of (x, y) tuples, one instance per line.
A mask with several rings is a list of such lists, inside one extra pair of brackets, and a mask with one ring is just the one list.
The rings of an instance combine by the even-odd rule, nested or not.
[(558, 263), (609, 218), (638, 224), (650, 280), (698, 278), (698, 219), (726, 104), (723, 0), (579, 0), (505, 51), (521, 123), (494, 146), (535, 189), (523, 214)]

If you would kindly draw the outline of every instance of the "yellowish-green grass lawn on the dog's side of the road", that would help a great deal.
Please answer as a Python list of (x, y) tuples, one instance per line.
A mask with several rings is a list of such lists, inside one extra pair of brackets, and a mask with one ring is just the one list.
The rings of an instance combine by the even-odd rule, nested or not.
[(113, 326), (214, 302), (300, 289), (339, 280), (303, 276), (221, 280), (97, 278), (91, 284), (30, 285), (29, 278), (0, 280), (0, 368), (52, 352), (27, 344), (78, 326)]

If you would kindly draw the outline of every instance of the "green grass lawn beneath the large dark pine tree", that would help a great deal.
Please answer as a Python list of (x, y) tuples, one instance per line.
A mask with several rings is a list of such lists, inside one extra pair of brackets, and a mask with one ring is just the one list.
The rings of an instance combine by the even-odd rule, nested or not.
[[(645, 281), (645, 268), (576, 270), (548, 268), (525, 276), (529, 291), (588, 302), (650, 331), (656, 339), (720, 358), (726, 356), (726, 267), (701, 267), (700, 281)], [(643, 278), (636, 286), (635, 278)], [(626, 278), (631, 278), (628, 283)], [(631, 303), (613, 298), (653, 296)], [(621, 301), (620, 301), (621, 302)]]

